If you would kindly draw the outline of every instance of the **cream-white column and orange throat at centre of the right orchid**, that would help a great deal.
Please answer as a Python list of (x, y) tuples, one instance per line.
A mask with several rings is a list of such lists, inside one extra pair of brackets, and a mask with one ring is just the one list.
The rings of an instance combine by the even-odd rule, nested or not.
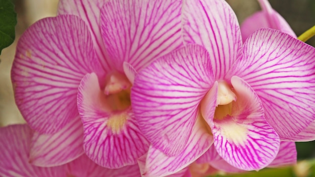
[(231, 115), (233, 101), (236, 100), (237, 97), (232, 92), (230, 86), (224, 81), (218, 82), (218, 106), (215, 108), (214, 119), (222, 120), (227, 115)]

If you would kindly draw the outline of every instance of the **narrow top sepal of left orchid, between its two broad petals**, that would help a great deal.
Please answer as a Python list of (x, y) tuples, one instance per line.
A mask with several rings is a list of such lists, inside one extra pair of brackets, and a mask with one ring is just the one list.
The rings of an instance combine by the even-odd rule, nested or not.
[(100, 18), (104, 0), (60, 0), (58, 15), (71, 14), (80, 17), (91, 32), (96, 57), (103, 70), (109, 71), (112, 61), (109, 59), (101, 35)]

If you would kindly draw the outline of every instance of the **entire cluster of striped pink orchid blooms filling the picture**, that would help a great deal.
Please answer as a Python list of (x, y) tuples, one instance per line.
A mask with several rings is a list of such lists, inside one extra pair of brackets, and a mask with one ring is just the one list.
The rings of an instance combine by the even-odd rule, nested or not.
[(315, 48), (267, 0), (60, 0), (12, 67), (27, 124), (1, 176), (204, 176), (296, 162), (315, 140)]

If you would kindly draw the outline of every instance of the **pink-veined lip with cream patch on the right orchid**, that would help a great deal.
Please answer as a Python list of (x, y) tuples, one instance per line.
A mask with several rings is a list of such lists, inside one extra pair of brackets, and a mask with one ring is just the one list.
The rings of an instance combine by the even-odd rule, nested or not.
[(238, 99), (232, 102), (231, 115), (213, 120), (213, 144), (229, 164), (243, 170), (262, 169), (276, 157), (279, 136), (265, 120), (262, 103), (250, 85), (237, 76), (231, 83)]

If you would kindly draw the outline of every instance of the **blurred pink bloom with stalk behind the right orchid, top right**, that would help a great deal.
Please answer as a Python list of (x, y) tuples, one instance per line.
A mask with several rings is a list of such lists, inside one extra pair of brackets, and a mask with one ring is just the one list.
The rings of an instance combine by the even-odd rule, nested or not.
[(245, 19), (241, 25), (243, 41), (259, 28), (280, 30), (296, 38), (295, 33), (283, 17), (273, 10), (267, 0), (259, 0), (262, 11)]

